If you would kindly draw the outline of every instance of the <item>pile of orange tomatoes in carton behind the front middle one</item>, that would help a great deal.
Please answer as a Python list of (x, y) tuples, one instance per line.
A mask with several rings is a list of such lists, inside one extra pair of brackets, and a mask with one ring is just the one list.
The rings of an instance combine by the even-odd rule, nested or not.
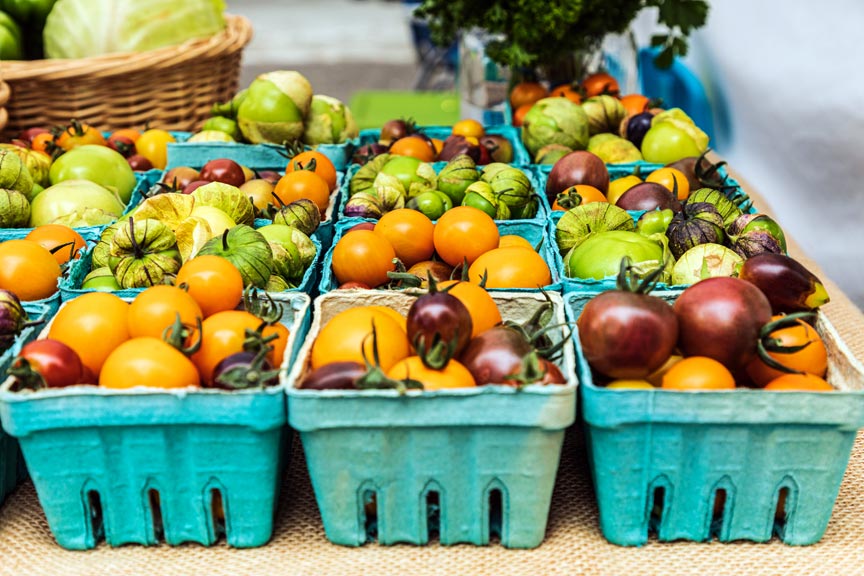
[(382, 287), (400, 271), (447, 280), (459, 266), (469, 281), (485, 279), (487, 288), (538, 289), (552, 283), (549, 265), (527, 240), (501, 236), (495, 221), (471, 206), (448, 210), (436, 223), (416, 210), (393, 210), (375, 224), (348, 229), (332, 256), (341, 288)]

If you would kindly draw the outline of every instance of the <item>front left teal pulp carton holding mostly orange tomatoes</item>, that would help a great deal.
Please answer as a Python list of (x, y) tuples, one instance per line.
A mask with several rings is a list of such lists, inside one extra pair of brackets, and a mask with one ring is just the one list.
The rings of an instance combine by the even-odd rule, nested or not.
[[(309, 297), (279, 294), (289, 369), (309, 322)], [(57, 542), (265, 544), (273, 531), (290, 432), (284, 389), (11, 392), (0, 415), (18, 438)], [(218, 492), (217, 498), (215, 493)], [(160, 525), (161, 524), (161, 525)]]

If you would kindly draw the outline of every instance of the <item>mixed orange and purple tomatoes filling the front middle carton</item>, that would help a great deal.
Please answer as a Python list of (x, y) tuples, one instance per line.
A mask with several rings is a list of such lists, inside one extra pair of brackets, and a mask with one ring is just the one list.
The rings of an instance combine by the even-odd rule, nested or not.
[(550, 360), (560, 344), (548, 341), (549, 327), (536, 320), (541, 316), (521, 325), (502, 323), (483, 287), (433, 281), (407, 316), (386, 306), (359, 306), (330, 318), (315, 336), (301, 387), (404, 391), (565, 384)]

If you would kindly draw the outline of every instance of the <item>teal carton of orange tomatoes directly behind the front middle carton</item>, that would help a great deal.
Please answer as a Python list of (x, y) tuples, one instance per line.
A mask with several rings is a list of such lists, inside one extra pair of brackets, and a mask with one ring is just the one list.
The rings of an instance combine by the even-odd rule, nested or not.
[[(339, 287), (336, 278), (333, 276), (333, 250), (336, 243), (345, 234), (345, 232), (357, 224), (365, 222), (361, 218), (348, 218), (336, 224), (336, 235), (333, 237), (333, 246), (327, 251), (324, 256), (321, 267), (321, 283), (318, 287), (319, 294), (326, 294), (331, 290)], [(548, 286), (543, 286), (543, 290), (547, 292), (560, 292), (562, 289), (561, 276), (561, 256), (553, 244), (553, 240), (549, 238), (549, 226), (546, 222), (534, 222), (531, 220), (499, 220), (496, 222), (498, 231), (501, 236), (516, 235), (522, 236), (528, 240), (532, 246), (538, 247), (538, 253), (546, 261), (549, 266), (549, 272), (552, 276), (552, 283)], [(557, 258), (557, 260), (556, 260)], [(506, 290), (507, 292), (536, 292), (537, 288), (490, 288), (490, 291), (497, 292)]]

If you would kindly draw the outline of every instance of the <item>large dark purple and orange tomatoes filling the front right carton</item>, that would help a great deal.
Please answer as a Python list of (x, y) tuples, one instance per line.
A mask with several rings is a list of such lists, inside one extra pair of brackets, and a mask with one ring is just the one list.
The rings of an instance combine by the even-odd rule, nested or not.
[(697, 282), (672, 306), (646, 286), (600, 294), (579, 316), (583, 353), (605, 386), (833, 389), (813, 312), (772, 316), (766, 295), (738, 278)]

